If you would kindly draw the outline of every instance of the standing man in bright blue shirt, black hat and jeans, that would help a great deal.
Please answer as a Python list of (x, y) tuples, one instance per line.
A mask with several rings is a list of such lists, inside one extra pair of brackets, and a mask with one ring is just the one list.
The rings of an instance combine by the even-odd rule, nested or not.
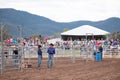
[(51, 43), (50, 47), (47, 50), (48, 53), (48, 68), (51, 68), (53, 66), (53, 58), (54, 58), (54, 54), (55, 54), (55, 48), (53, 47), (54, 45)]

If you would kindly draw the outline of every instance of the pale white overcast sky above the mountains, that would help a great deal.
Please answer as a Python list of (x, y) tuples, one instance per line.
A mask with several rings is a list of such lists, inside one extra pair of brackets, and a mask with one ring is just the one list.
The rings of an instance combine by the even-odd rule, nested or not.
[(57, 22), (120, 18), (120, 0), (0, 0), (0, 8), (14, 8)]

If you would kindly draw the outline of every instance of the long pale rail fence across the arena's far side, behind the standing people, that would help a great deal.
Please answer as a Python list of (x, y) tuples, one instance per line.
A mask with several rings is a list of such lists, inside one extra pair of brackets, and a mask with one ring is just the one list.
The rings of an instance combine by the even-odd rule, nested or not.
[[(43, 58), (47, 58), (47, 48), (43, 48)], [(37, 58), (37, 48), (33, 49), (24, 49), (25, 52), (25, 58), (28, 58), (25, 62), (37, 62), (37, 60), (32, 60), (31, 58)], [(75, 62), (75, 60), (94, 60), (94, 50), (93, 47), (90, 46), (84, 46), (79, 47), (78, 49), (72, 47), (70, 49), (62, 49), (62, 48), (56, 48), (56, 54), (54, 55), (54, 62), (55, 61), (66, 61), (71, 60), (71, 62)], [(114, 58), (120, 56), (120, 50), (118, 49), (104, 49), (103, 50), (103, 58)], [(60, 59), (59, 57), (67, 57), (67, 59)], [(47, 60), (44, 60), (47, 61)]]

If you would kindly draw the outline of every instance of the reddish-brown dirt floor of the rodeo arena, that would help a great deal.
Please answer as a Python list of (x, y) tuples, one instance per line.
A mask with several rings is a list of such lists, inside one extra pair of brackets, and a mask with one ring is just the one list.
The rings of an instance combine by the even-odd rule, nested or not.
[[(62, 61), (63, 60), (63, 61)], [(120, 80), (120, 58), (105, 58), (101, 62), (57, 58), (51, 69), (43, 61), (41, 69), (37, 62), (23, 71), (13, 70), (0, 74), (0, 80)]]

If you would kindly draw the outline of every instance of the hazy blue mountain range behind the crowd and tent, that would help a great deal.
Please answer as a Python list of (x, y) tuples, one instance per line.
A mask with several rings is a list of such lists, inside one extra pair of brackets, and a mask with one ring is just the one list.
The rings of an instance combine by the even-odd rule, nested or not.
[(88, 20), (56, 22), (43, 16), (12, 8), (0, 9), (0, 23), (6, 24), (12, 35), (19, 35), (20, 29), (22, 35), (53, 35), (57, 32), (63, 32), (64, 28), (73, 29), (82, 25), (95, 26), (109, 32), (120, 30), (120, 18), (117, 17), (96, 22)]

